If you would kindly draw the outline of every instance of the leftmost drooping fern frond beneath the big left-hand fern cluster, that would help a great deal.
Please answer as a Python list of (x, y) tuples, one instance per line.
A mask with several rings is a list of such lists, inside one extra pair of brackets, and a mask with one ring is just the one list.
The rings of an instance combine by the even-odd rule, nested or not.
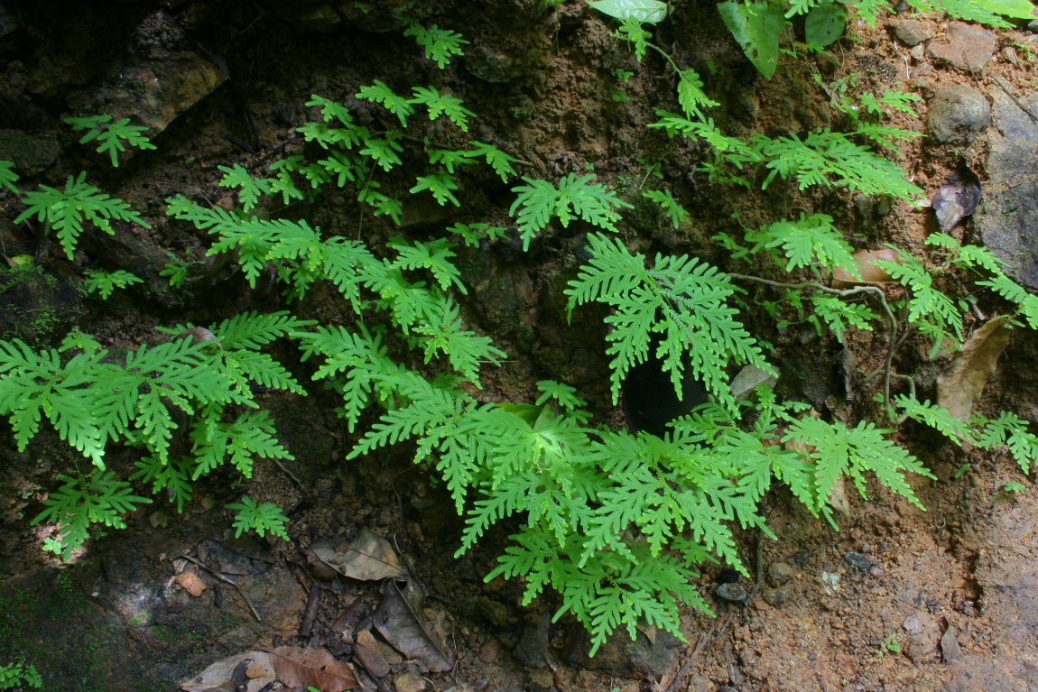
[(126, 528), (122, 517), (137, 508), (138, 504), (151, 504), (146, 497), (133, 494), (133, 488), (126, 480), (114, 477), (111, 471), (94, 469), (88, 477), (73, 478), (58, 476), (61, 488), (44, 500), (44, 509), (32, 519), (32, 524), (54, 522), (58, 524), (60, 537), (55, 552), (67, 560), (89, 537), (92, 524), (104, 524), (111, 528)]

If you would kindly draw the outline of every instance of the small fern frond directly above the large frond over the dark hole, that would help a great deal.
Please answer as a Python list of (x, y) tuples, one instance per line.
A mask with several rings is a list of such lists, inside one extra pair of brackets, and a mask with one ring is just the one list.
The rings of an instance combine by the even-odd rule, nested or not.
[[(555, 187), (543, 179), (523, 177), (526, 185), (513, 188), (516, 199), (509, 214), (516, 217), (523, 251), (544, 230), (551, 217), (558, 219), (564, 228), (573, 219), (580, 219), (605, 230), (616, 230), (621, 209), (631, 204), (620, 199), (614, 192), (600, 183), (592, 183), (594, 175), (577, 176), (569, 173)], [(516, 214), (518, 212), (518, 214)]]

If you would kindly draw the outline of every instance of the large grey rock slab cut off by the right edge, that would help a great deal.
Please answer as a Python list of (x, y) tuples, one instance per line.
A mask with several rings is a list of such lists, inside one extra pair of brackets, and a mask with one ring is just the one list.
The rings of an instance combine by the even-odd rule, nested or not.
[(998, 131), (988, 136), (988, 178), (974, 222), (984, 245), (1009, 262), (1009, 274), (1038, 288), (1038, 93), (1019, 105), (1001, 89), (991, 90)]

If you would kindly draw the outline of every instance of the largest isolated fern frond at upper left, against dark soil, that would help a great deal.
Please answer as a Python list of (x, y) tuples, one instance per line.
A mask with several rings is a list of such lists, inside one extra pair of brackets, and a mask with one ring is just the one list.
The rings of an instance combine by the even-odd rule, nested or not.
[(38, 191), (25, 193), (26, 210), (15, 219), (15, 223), (36, 217), (44, 222), (45, 230), (53, 230), (64, 250), (65, 256), (72, 259), (83, 224), (88, 222), (113, 236), (112, 221), (136, 223), (138, 226), (151, 228), (151, 224), (140, 218), (140, 214), (130, 209), (121, 199), (111, 197), (86, 182), (86, 173), (79, 177), (69, 176), (65, 189), (57, 190), (40, 185)]

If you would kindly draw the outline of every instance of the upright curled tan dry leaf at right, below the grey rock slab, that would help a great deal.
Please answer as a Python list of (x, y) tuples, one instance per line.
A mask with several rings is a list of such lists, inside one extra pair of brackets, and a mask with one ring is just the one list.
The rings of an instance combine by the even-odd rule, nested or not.
[(937, 377), (937, 406), (963, 422), (969, 420), (974, 405), (994, 375), (999, 356), (1009, 343), (1008, 323), (1006, 315), (988, 320)]

